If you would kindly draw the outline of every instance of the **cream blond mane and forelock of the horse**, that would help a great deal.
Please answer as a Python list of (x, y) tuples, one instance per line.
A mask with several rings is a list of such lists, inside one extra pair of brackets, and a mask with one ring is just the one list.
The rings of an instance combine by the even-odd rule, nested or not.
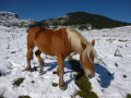
[(83, 59), (90, 59), (91, 52), (93, 53), (94, 58), (96, 58), (97, 54), (93, 45), (90, 41), (87, 41), (78, 30), (71, 27), (67, 27), (67, 32), (68, 38), (71, 41), (71, 46), (78, 53), (82, 52), (82, 44), (86, 46), (86, 48), (83, 51)]

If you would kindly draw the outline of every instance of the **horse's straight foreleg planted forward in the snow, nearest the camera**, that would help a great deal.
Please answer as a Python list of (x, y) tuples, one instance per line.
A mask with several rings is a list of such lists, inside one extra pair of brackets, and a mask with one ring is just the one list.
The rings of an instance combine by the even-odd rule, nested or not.
[(58, 56), (57, 59), (58, 59), (58, 72), (59, 72), (58, 73), (59, 74), (59, 87), (60, 87), (60, 89), (66, 90), (67, 86), (66, 86), (64, 81), (63, 81), (63, 71), (64, 71), (63, 62), (64, 62), (64, 58), (62, 56)]

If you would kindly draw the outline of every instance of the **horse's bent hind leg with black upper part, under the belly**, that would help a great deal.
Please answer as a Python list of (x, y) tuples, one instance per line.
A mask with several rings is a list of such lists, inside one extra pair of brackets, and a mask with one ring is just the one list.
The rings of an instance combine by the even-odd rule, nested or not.
[(43, 75), (45, 72), (44, 72), (44, 60), (41, 59), (41, 57), (40, 57), (40, 51), (39, 50), (37, 50), (36, 52), (35, 52), (35, 54), (36, 54), (36, 57), (37, 57), (37, 59), (38, 59), (38, 62), (39, 62), (39, 66), (40, 66), (40, 75)]

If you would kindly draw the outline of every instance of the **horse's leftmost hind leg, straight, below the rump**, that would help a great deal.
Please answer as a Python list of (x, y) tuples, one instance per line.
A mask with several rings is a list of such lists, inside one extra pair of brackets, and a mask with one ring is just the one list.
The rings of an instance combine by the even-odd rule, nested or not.
[(33, 48), (27, 48), (27, 71), (32, 72), (31, 70), (31, 60), (33, 60)]

